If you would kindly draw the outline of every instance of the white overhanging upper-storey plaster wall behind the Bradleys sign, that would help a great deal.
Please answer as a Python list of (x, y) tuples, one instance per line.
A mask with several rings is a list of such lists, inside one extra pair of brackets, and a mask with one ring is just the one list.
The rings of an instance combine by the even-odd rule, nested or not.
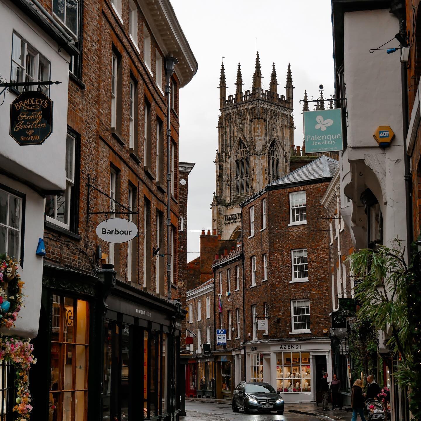
[(0, 113), (0, 162), (4, 170), (35, 184), (42, 189), (58, 190), (66, 187), (67, 98), (69, 85), (69, 55), (59, 53), (58, 45), (37, 27), (12, 2), (0, 2), (0, 74), (10, 81), (13, 30), (51, 62), (53, 100), (53, 133), (41, 145), (19, 146), (9, 135), (10, 104), (16, 93), (5, 93)]

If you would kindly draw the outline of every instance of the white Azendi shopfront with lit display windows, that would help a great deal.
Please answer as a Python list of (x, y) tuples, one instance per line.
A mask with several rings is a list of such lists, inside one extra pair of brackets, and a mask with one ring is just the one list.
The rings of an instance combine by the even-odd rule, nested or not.
[(270, 341), (246, 346), (246, 380), (267, 381), (285, 402), (314, 402), (322, 373), (332, 377), (330, 341)]

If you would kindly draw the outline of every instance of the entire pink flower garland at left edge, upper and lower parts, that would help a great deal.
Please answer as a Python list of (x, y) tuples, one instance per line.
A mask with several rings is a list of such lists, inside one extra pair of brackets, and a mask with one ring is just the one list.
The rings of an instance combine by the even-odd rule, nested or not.
[[(24, 305), (22, 288), (25, 282), (18, 273), (19, 261), (2, 256), (0, 262), (0, 328), (11, 328)], [(34, 345), (29, 339), (0, 336), (0, 362), (6, 361), (15, 368), (17, 397), (13, 412), (17, 413), (18, 421), (28, 421), (32, 411), (28, 374), (31, 365), (36, 362), (33, 349)]]

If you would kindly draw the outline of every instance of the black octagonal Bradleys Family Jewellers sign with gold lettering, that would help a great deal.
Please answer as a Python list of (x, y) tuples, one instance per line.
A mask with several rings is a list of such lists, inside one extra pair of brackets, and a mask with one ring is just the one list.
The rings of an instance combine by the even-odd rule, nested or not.
[(10, 106), (10, 136), (21, 145), (40, 145), (53, 132), (53, 101), (43, 91), (23, 91)]

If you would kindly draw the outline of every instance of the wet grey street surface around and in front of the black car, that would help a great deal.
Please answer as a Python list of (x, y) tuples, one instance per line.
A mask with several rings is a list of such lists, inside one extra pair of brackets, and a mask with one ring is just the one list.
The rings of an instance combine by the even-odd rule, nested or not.
[(290, 404), (285, 406), (283, 415), (276, 413), (256, 413), (246, 415), (242, 410), (238, 413), (233, 413), (231, 405), (216, 402), (197, 402), (192, 400), (186, 401), (186, 416), (181, 417), (182, 421), (266, 421), (266, 420), (282, 420), (282, 421), (314, 421), (314, 420), (344, 420), (349, 421), (352, 413), (345, 411), (330, 411), (325, 414), (317, 416), (310, 416), (308, 414), (301, 414), (291, 412), (295, 410), (302, 410), (303, 412), (320, 411), (320, 406), (311, 409), (312, 404)]

